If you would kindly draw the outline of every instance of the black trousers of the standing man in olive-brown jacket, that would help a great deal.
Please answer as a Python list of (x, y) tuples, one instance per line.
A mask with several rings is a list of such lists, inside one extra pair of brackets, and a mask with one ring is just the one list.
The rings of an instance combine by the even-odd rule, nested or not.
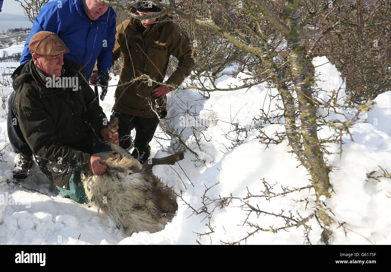
[(135, 150), (132, 152), (132, 156), (143, 164), (151, 154), (149, 142), (152, 141), (158, 127), (158, 117), (142, 118), (120, 112), (114, 112), (114, 115), (118, 117), (118, 134), (122, 148), (128, 149), (131, 146), (132, 137), (130, 133), (135, 128), (136, 136), (133, 142)]

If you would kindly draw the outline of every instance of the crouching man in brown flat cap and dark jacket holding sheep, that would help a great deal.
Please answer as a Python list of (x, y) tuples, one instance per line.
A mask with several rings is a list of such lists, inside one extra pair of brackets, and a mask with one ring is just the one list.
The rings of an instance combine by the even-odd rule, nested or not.
[(103, 150), (97, 148), (88, 124), (111, 142), (118, 143), (118, 134), (109, 130), (106, 115), (78, 72), (81, 65), (63, 57), (69, 50), (56, 34), (40, 31), (29, 47), (32, 59), (12, 75), (16, 131), (22, 132), (60, 195), (83, 203), (80, 171), (89, 168), (99, 175), (107, 168), (101, 158), (90, 155)]

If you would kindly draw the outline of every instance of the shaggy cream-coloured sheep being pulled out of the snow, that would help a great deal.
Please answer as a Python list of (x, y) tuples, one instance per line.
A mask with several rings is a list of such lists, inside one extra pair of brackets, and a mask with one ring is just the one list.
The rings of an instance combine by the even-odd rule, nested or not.
[[(118, 129), (118, 119), (111, 117), (109, 128)], [(110, 143), (113, 151), (94, 154), (107, 164), (102, 175), (91, 170), (81, 179), (90, 204), (106, 213), (127, 236), (133, 232), (158, 232), (171, 222), (177, 209), (176, 193), (152, 173), (158, 164), (175, 164), (183, 152), (164, 158), (152, 158), (143, 165), (117, 144)]]

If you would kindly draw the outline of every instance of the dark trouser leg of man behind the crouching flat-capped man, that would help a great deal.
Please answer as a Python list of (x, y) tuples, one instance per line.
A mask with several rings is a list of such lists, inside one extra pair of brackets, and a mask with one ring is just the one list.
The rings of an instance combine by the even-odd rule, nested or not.
[(32, 151), (23, 137), (18, 119), (12, 110), (12, 100), (15, 92), (12, 92), (8, 99), (7, 133), (8, 139), (15, 153), (23, 153), (27, 157), (32, 157)]

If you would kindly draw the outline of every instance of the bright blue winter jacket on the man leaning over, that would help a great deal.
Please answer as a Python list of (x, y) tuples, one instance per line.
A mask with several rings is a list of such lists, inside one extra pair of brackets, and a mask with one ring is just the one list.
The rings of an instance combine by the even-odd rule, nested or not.
[(83, 65), (87, 78), (98, 60), (99, 72), (108, 72), (115, 42), (115, 17), (112, 7), (97, 20), (92, 21), (82, 8), (84, 0), (50, 1), (39, 10), (35, 18), (20, 64), (32, 57), (29, 50), (31, 37), (39, 31), (56, 33), (68, 47), (64, 57)]

